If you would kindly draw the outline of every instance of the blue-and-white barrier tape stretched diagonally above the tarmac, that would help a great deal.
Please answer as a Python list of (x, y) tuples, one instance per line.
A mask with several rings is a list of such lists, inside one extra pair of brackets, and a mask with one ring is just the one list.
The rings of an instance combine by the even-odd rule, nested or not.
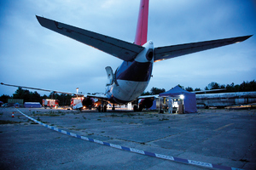
[[(17, 111), (19, 111), (17, 109)], [(19, 111), (23, 116), (26, 116), (24, 113), (22, 113), (21, 111)], [(146, 156), (152, 156), (152, 157), (157, 157), (157, 158), (160, 158), (160, 159), (165, 159), (165, 160), (169, 160), (169, 161), (177, 161), (177, 162), (181, 162), (181, 163), (186, 163), (186, 164), (189, 164), (189, 165), (195, 165), (195, 166), (200, 166), (200, 167), (207, 167), (207, 168), (216, 168), (216, 169), (224, 169), (224, 170), (242, 170), (240, 168), (236, 168), (236, 167), (225, 167), (225, 166), (222, 166), (222, 165), (217, 165), (217, 164), (212, 164), (212, 163), (207, 163), (207, 162), (203, 162), (203, 161), (193, 161), (193, 160), (187, 160), (187, 159), (183, 159), (183, 158), (178, 158), (178, 157), (174, 157), (174, 156), (166, 156), (166, 155), (162, 155), (162, 154), (156, 154), (156, 153), (152, 153), (152, 152), (148, 152), (148, 151), (145, 151), (145, 150), (137, 150), (137, 149), (134, 149), (134, 148), (127, 148), (125, 146), (121, 146), (119, 144), (110, 144), (110, 143), (107, 143), (107, 142), (103, 142), (101, 140), (96, 140), (96, 139), (90, 139), (90, 138), (87, 138), (85, 136), (80, 136), (78, 134), (75, 134), (75, 133), (69, 133), (65, 130), (61, 130), (60, 128), (57, 128), (57, 127), (52, 127), (52, 126), (49, 126), (43, 122), (39, 122), (38, 120), (36, 119), (33, 119), (32, 117), (30, 116), (26, 116), (28, 119), (32, 120), (33, 122), (37, 122), (38, 124), (44, 126), (44, 127), (48, 127), (52, 130), (55, 130), (59, 133), (64, 133), (64, 134), (67, 134), (69, 136), (72, 136), (72, 137), (75, 137), (75, 138), (78, 138), (78, 139), (84, 139), (84, 140), (87, 140), (87, 141), (90, 141), (90, 142), (94, 142), (96, 144), (103, 144), (103, 145), (107, 145), (107, 146), (110, 146), (112, 148), (116, 148), (116, 149), (119, 149), (119, 150), (125, 150), (125, 151), (131, 151), (131, 152), (134, 152), (134, 153), (137, 153), (137, 154), (142, 154), (142, 155), (146, 155)]]

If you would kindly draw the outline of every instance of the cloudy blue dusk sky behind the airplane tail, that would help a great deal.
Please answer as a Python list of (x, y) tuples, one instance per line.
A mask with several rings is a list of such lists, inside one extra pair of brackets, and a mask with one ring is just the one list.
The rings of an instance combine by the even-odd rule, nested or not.
[[(50, 31), (36, 14), (134, 42), (139, 0), (0, 1), (0, 82), (83, 94), (104, 93), (106, 66), (122, 63)], [(254, 35), (245, 42), (154, 63), (146, 91), (177, 84), (204, 89), (210, 82), (256, 80), (256, 1), (150, 0), (148, 40), (154, 47)], [(17, 88), (0, 85), (0, 96)], [(30, 90), (33, 92), (33, 90)], [(47, 92), (38, 91), (41, 95)]]

